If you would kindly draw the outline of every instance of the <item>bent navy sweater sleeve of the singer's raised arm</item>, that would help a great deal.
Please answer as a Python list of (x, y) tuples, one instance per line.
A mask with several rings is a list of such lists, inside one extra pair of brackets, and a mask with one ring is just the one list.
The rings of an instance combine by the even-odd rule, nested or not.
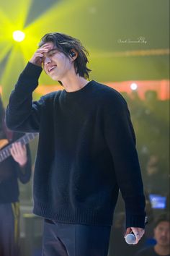
[(6, 108), (6, 126), (17, 132), (39, 132), (43, 97), (32, 102), (42, 68), (28, 62), (20, 74)]

